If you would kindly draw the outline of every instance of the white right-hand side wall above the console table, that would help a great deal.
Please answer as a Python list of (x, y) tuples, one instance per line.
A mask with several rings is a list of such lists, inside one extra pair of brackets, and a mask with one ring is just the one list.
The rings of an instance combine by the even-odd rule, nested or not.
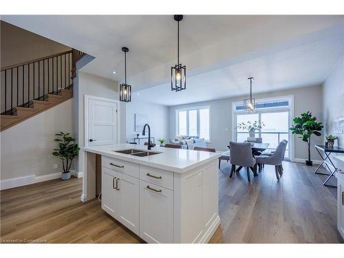
[[(344, 131), (338, 129), (336, 121), (342, 120), (344, 123), (344, 56), (323, 83), (323, 114), (326, 134), (338, 136), (335, 144), (344, 148)], [(343, 130), (343, 124), (341, 128)]]

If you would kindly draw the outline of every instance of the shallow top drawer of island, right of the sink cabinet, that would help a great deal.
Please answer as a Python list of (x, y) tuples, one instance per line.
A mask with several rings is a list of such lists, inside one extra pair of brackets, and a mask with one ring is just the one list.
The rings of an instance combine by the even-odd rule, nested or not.
[(140, 180), (173, 190), (173, 172), (140, 165)]

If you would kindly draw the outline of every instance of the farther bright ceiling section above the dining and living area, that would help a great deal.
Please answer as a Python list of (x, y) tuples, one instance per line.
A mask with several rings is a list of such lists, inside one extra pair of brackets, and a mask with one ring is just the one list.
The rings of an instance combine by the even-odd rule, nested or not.
[(344, 54), (343, 28), (332, 30), (325, 39), (250, 58), (211, 72), (187, 78), (186, 90), (171, 92), (165, 83), (133, 94), (133, 101), (145, 100), (160, 105), (182, 105), (294, 87), (320, 85)]

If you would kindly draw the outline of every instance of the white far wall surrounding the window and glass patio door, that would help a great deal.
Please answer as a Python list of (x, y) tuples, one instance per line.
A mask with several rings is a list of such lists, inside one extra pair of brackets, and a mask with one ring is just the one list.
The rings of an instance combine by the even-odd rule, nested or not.
[[(290, 96), (294, 95), (294, 116), (299, 116), (304, 111), (312, 111), (312, 114), (316, 116), (319, 121), (323, 121), (323, 99), (322, 99), (322, 87), (302, 87), (297, 89), (288, 89), (279, 92), (268, 92), (265, 94), (254, 94), (254, 97), (259, 98), (271, 98), (277, 96)], [(224, 150), (228, 145), (228, 142), (232, 140), (232, 103), (241, 101), (247, 96), (226, 98), (222, 100), (212, 100), (202, 103), (193, 103), (188, 105), (178, 105), (169, 108), (169, 138), (175, 138), (176, 135), (176, 119), (175, 110), (183, 107), (193, 106), (211, 106), (211, 143), (208, 147), (215, 148), (217, 150)], [(228, 129), (228, 131), (226, 131)], [(323, 143), (322, 137), (312, 136), (312, 144)], [(308, 151), (307, 144), (302, 142), (301, 139), (295, 137), (294, 142), (295, 158), (307, 159)], [(316, 153), (314, 147), (311, 149), (311, 158), (319, 160), (319, 155)]]

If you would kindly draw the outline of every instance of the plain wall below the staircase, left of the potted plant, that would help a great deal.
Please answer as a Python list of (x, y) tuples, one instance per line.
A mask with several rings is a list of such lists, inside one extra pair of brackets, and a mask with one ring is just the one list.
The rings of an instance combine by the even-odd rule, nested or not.
[(1, 132), (1, 180), (63, 171), (61, 160), (52, 155), (54, 135), (74, 136), (72, 106), (73, 100), (67, 100)]

